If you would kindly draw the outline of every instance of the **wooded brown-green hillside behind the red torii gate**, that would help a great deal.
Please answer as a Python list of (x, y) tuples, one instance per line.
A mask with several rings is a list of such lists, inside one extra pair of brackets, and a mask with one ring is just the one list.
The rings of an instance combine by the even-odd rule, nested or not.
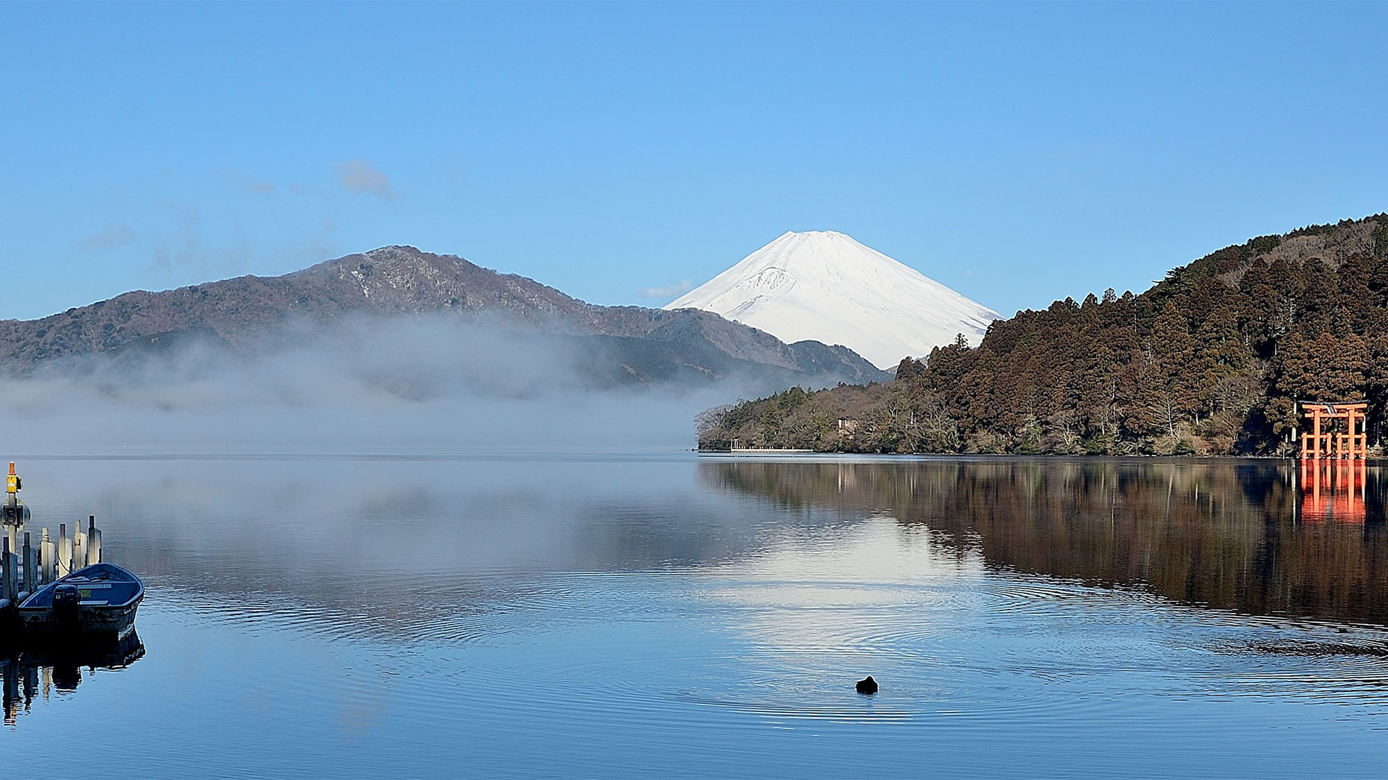
[(890, 383), (791, 389), (709, 415), (701, 448), (1287, 454), (1296, 400), (1388, 405), (1388, 214), (1260, 236), (1142, 294), (1023, 311)]

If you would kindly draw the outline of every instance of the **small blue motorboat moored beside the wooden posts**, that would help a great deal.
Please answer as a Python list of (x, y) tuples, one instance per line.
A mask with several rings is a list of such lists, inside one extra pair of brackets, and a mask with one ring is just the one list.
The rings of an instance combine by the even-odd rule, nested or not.
[(19, 604), (31, 637), (82, 634), (122, 638), (135, 631), (144, 584), (115, 563), (93, 563), (60, 577)]

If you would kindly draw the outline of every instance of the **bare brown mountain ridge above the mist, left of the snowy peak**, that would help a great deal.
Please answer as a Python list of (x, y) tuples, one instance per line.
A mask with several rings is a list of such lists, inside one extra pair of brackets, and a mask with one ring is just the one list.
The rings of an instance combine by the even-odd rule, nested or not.
[(0, 321), (0, 372), (24, 375), (64, 358), (160, 350), (190, 339), (247, 353), (294, 337), (304, 323), (429, 312), (569, 341), (595, 339), (612, 365), (594, 371), (625, 382), (883, 378), (841, 347), (786, 344), (711, 312), (591, 305), (523, 276), (414, 247), (382, 247), (283, 276), (130, 291), (43, 319)]

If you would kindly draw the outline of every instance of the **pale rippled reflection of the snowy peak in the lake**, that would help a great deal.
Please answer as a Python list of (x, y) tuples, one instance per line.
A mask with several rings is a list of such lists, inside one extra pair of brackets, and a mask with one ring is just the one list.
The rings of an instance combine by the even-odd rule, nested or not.
[[(734, 694), (704, 704), (775, 720), (912, 719), (942, 694), (945, 644), (979, 611), (977, 554), (959, 554), (923, 526), (874, 515), (833, 534), (787, 529), (750, 561), (722, 566), (704, 594), (741, 647)], [(876, 697), (854, 681), (874, 675)], [(716, 690), (712, 688), (711, 690)]]

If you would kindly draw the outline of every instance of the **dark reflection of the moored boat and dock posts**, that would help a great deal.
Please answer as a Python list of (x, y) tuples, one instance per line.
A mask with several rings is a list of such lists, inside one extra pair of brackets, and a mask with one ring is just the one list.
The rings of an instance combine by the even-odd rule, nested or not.
[(82, 681), (82, 668), (121, 669), (144, 656), (139, 634), (129, 631), (118, 641), (64, 643), (61, 647), (6, 656), (0, 652), (0, 677), (4, 691), (4, 723), (14, 726), (24, 705), (29, 711), (36, 697), (49, 698), (50, 690), (71, 691)]

